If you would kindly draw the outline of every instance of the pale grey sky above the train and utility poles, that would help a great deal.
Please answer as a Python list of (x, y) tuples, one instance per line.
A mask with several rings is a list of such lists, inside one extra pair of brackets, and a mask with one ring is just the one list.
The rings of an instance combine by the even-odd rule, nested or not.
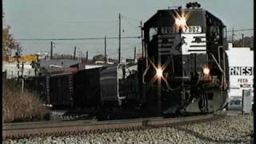
[[(103, 38), (118, 37), (118, 14), (122, 15), (122, 37), (140, 36), (140, 21), (146, 22), (157, 10), (183, 6), (190, 0), (3, 0), (4, 26), (16, 39), (23, 38)], [(194, 2), (194, 1), (192, 1)], [(253, 29), (253, 0), (198, 0), (227, 26), (228, 30)], [(235, 33), (234, 38), (253, 35)], [(50, 41), (18, 41), (23, 54), (50, 51)], [(104, 40), (54, 41), (54, 53), (104, 54)], [(118, 58), (118, 39), (107, 39), (107, 54)], [(122, 39), (122, 58), (133, 58), (141, 39)], [(79, 52), (80, 54), (80, 52)], [(78, 54), (78, 56), (79, 56)]]

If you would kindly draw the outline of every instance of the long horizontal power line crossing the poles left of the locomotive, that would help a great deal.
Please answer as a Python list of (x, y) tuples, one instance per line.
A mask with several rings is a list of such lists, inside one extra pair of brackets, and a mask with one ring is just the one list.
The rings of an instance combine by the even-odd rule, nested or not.
[[(121, 38), (141, 38), (140, 36), (130, 36)], [(18, 41), (81, 41), (81, 40), (98, 40), (105, 38), (20, 38)], [(118, 39), (118, 37), (108, 37), (107, 39)]]

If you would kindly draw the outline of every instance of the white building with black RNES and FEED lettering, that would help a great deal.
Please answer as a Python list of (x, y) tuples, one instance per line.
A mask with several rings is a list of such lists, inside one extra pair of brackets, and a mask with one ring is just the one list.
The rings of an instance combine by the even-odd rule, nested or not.
[(242, 90), (253, 91), (254, 51), (250, 47), (233, 47), (226, 50), (230, 66), (229, 98), (242, 98)]

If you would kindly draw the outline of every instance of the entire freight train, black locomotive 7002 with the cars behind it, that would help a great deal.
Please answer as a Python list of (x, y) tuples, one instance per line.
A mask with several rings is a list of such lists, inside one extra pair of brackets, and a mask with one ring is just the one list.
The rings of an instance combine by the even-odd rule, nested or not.
[(142, 27), (138, 63), (26, 79), (53, 106), (91, 114), (210, 113), (226, 105), (229, 69), (226, 26), (189, 3), (158, 10)]

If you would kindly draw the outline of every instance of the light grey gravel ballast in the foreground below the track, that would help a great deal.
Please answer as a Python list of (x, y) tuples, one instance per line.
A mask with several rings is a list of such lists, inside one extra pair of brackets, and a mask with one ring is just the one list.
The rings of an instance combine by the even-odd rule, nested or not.
[(252, 115), (227, 115), (214, 122), (65, 137), (6, 139), (3, 143), (250, 143)]

